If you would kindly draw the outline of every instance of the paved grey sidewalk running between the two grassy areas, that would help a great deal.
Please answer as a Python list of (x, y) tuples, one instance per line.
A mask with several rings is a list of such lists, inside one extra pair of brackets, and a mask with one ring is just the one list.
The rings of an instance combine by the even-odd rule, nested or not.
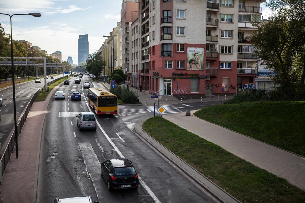
[[(193, 114), (196, 111), (192, 111)], [(305, 159), (248, 136), (185, 113), (163, 118), (305, 190)], [(196, 126), (194, 128), (193, 126)]]

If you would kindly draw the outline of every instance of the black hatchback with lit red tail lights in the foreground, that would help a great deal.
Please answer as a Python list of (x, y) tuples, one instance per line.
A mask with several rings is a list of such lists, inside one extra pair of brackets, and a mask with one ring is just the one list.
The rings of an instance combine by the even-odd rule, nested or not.
[(106, 180), (109, 191), (112, 189), (138, 189), (138, 173), (128, 159), (108, 159), (102, 162), (101, 175)]

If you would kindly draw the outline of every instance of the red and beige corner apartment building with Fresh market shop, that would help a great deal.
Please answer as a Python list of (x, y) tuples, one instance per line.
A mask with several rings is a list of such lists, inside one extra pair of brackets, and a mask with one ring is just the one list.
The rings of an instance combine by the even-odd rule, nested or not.
[(249, 36), (256, 29), (252, 23), (260, 22), (262, 2), (141, 0), (138, 77), (142, 88), (200, 98), (222, 90), (234, 94), (236, 87), (253, 83), (257, 57)]

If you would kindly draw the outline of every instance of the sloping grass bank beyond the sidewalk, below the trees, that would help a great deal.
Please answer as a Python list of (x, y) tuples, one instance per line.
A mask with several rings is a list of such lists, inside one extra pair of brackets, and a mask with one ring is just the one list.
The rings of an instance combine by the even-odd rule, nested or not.
[(250, 102), (203, 108), (196, 116), (305, 156), (305, 102)]

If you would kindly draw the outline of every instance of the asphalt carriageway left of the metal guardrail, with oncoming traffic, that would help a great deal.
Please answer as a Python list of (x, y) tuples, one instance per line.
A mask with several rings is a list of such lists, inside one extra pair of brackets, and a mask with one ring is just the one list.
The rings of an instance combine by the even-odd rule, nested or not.
[[(56, 79), (62, 76), (63, 75), (57, 75), (53, 76), (53, 78)], [(47, 79), (47, 82), (50, 81), (50, 78)], [(41, 79), (41, 83), (35, 83), (34, 80), (31, 80), (30, 82), (15, 85), (17, 120), (32, 98), (32, 95), (34, 95), (39, 88), (42, 88), (44, 84), (44, 79)], [(14, 128), (13, 86), (7, 89), (0, 89), (0, 98), (3, 99), (3, 105), (0, 107), (0, 143), (3, 145), (9, 136), (9, 132)]]

